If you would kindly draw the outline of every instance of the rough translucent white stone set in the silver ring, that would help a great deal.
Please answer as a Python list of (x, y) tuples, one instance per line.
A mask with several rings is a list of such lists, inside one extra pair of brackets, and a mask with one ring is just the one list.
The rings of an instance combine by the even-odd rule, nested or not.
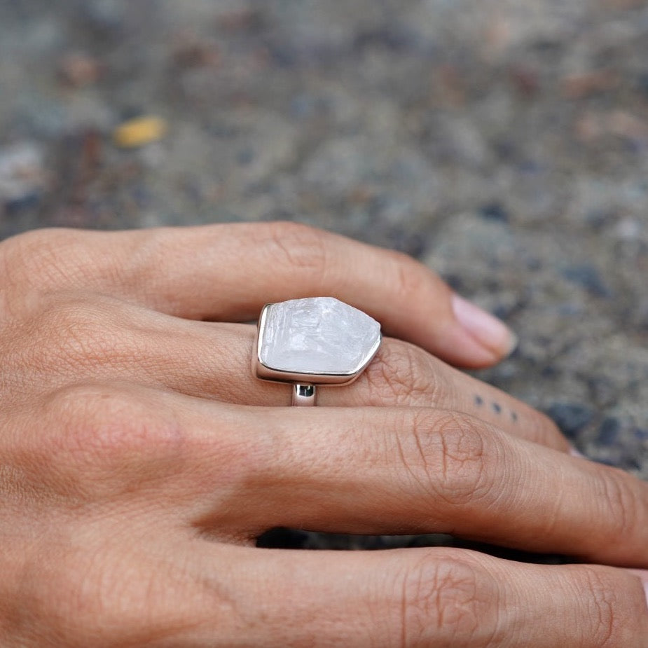
[(350, 374), (371, 360), (380, 324), (333, 297), (272, 304), (261, 338), (261, 362), (291, 373)]

